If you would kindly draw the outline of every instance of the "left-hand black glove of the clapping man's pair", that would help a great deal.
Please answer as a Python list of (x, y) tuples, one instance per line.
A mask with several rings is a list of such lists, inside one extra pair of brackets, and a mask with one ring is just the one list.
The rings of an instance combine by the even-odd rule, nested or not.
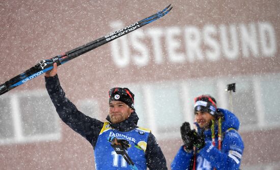
[(186, 150), (193, 149), (193, 142), (194, 142), (194, 133), (195, 130), (190, 129), (189, 122), (184, 122), (181, 126), (181, 137), (186, 147)]

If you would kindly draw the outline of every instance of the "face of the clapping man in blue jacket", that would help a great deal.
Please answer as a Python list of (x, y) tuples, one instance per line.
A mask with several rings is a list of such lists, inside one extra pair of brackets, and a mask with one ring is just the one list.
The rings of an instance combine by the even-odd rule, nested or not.
[(199, 124), (200, 128), (208, 128), (209, 124), (214, 117), (208, 112), (195, 112), (194, 119)]

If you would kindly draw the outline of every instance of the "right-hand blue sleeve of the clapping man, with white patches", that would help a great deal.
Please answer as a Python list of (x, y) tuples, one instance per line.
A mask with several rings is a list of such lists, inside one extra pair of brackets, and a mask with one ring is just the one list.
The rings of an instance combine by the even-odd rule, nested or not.
[(212, 167), (216, 167), (219, 170), (239, 169), (244, 145), (236, 130), (226, 132), (221, 148), (221, 151), (219, 151), (211, 142), (208, 142), (199, 153), (210, 162)]

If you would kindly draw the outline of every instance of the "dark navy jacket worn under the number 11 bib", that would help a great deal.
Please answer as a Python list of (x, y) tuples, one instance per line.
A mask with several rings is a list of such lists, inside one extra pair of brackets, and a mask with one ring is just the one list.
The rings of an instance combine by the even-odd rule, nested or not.
[[(54, 77), (45, 77), (45, 81), (48, 94), (60, 118), (75, 132), (86, 138), (93, 146), (93, 149), (98, 148), (99, 152), (95, 152), (95, 157), (99, 156), (102, 152), (102, 148), (97, 146), (100, 145), (100, 143), (97, 142), (104, 122), (86, 116), (77, 110), (73, 103), (71, 103), (71, 101), (65, 96), (65, 92), (60, 85), (58, 75)], [(106, 119), (110, 122), (109, 116), (107, 116)], [(138, 128), (138, 119), (137, 114), (133, 112), (125, 121), (116, 124), (110, 122), (110, 126), (120, 133), (129, 132)], [(146, 163), (149, 169), (167, 169), (166, 160), (152, 133), (149, 133), (148, 135), (145, 159), (147, 160)], [(134, 162), (136, 160), (132, 161)], [(115, 169), (118, 169), (118, 167)]]

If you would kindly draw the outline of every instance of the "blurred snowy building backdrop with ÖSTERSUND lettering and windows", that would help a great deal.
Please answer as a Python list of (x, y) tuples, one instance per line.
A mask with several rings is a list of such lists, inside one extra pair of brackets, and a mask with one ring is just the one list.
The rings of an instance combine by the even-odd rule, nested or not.
[[(59, 67), (67, 97), (105, 121), (107, 91), (135, 94), (139, 126), (170, 164), (193, 122), (193, 98), (211, 94), (240, 120), (242, 169), (280, 167), (279, 1), (0, 2), (0, 84), (42, 59), (91, 42), (167, 5), (172, 11)], [(236, 83), (232, 95), (227, 84)], [(232, 106), (232, 107), (231, 107)], [(93, 148), (58, 117), (44, 76), (0, 96), (1, 169), (94, 169)]]

